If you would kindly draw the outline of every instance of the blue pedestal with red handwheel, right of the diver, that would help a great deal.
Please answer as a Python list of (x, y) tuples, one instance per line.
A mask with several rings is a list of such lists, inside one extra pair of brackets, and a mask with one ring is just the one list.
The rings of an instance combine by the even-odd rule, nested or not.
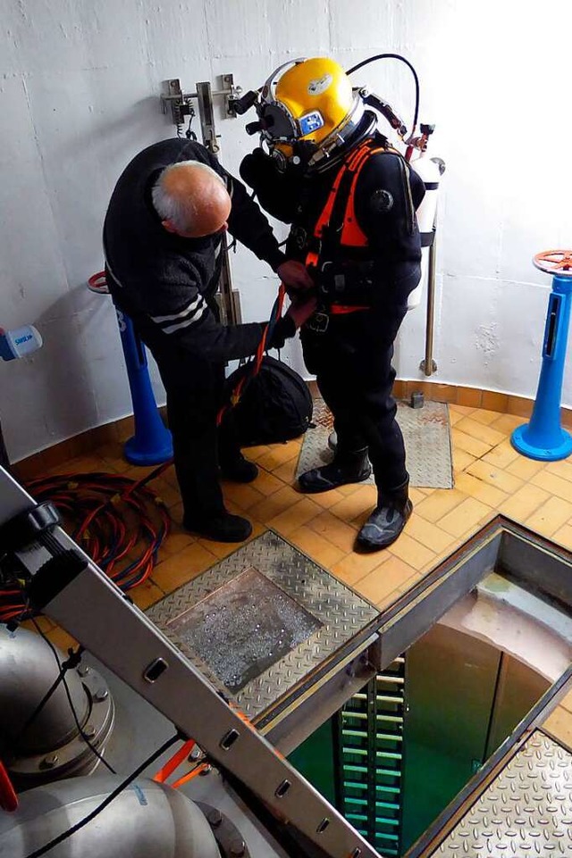
[(512, 445), (529, 459), (555, 462), (572, 453), (572, 436), (560, 425), (560, 397), (572, 304), (572, 253), (537, 254), (534, 264), (553, 274), (543, 341), (543, 365), (529, 423), (511, 436)]

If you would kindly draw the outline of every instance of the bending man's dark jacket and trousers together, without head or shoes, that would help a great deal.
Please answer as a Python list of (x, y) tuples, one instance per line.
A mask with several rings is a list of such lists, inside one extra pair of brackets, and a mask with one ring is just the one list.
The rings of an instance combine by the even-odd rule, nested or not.
[(224, 363), (254, 354), (264, 323), (228, 328), (219, 322), (214, 295), (224, 234), (183, 238), (162, 226), (152, 187), (164, 167), (181, 161), (206, 163), (225, 179), (233, 237), (274, 269), (285, 256), (245, 187), (193, 141), (164, 140), (139, 153), (117, 182), (105, 216), (107, 282), (156, 359), (185, 515), (208, 519), (224, 509), (219, 454), (222, 464), (240, 454), (231, 419), (216, 430)]

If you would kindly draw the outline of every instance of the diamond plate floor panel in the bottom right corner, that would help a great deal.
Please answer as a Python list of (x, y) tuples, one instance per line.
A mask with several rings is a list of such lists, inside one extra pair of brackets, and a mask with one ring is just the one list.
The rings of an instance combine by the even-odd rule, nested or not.
[(572, 754), (536, 731), (433, 855), (572, 856)]

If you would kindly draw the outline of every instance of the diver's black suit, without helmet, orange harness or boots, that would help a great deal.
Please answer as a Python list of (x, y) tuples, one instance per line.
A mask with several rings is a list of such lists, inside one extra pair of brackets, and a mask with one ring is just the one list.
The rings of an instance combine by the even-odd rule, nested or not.
[[(367, 117), (366, 117), (367, 121)], [(359, 138), (357, 129), (357, 138)], [(359, 144), (349, 145), (347, 155)], [(387, 146), (374, 134), (371, 147)], [(346, 155), (346, 157), (347, 157)], [(341, 163), (323, 170), (279, 173), (261, 150), (248, 155), (240, 175), (254, 187), (260, 204), (279, 220), (292, 224), (286, 246), (289, 258), (307, 260), (319, 255), (315, 281), (323, 305), (324, 324), (301, 331), (307, 369), (334, 417), (341, 457), (368, 448), (376, 485), (391, 492), (408, 474), (405, 447), (395, 420), (391, 396), (395, 371), (393, 342), (407, 312), (409, 293), (420, 276), (421, 243), (415, 211), (425, 186), (397, 153), (371, 154), (359, 171), (355, 186), (355, 216), (366, 236), (366, 246), (342, 247), (345, 200), (338, 197), (329, 228), (316, 241), (315, 224), (324, 210)], [(366, 310), (335, 314), (332, 304), (366, 306)]]

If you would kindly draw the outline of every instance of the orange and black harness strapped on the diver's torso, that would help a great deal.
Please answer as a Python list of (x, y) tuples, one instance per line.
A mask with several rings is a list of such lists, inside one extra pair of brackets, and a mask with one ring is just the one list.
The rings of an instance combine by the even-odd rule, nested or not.
[[(359, 226), (355, 195), (359, 174), (374, 154), (398, 154), (403, 161), (403, 176), (408, 200), (410, 228), (415, 229), (415, 209), (408, 179), (408, 166), (397, 150), (384, 141), (369, 137), (350, 152), (332, 184), (324, 209), (315, 221), (311, 235), (294, 226), (290, 237), (306, 251), (305, 264), (315, 279), (318, 306), (306, 323), (315, 333), (324, 333), (331, 316), (370, 310), (374, 290), (374, 262), (367, 253), (369, 241)], [(339, 260), (342, 251), (342, 260)], [(333, 257), (333, 259), (332, 259)]]

